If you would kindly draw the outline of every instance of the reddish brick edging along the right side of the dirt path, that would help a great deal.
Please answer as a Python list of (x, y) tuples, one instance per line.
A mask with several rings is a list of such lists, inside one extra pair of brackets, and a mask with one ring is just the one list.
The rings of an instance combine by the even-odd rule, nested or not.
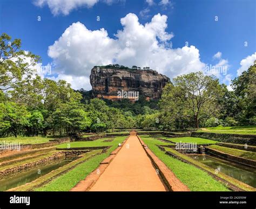
[(174, 173), (156, 156), (154, 153), (147, 148), (146, 144), (142, 139), (137, 136), (140, 143), (143, 146), (143, 149), (146, 151), (147, 156), (151, 159), (154, 166), (159, 170), (159, 174), (163, 179), (165, 185), (170, 191), (190, 191), (188, 187), (183, 184)]

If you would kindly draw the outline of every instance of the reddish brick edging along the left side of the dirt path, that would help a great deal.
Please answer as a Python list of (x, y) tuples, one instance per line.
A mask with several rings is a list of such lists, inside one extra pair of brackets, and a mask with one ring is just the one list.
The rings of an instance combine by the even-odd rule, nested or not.
[(123, 147), (124, 143), (126, 142), (127, 138), (122, 142), (120, 147), (117, 147), (114, 151), (111, 152), (110, 156), (105, 158), (102, 162), (100, 162), (97, 169), (92, 171), (84, 180), (80, 180), (76, 186), (74, 186), (70, 191), (72, 192), (81, 192), (81, 191), (89, 191), (91, 187), (97, 182), (99, 177), (105, 171), (107, 166), (109, 166), (110, 162), (116, 157), (117, 153)]

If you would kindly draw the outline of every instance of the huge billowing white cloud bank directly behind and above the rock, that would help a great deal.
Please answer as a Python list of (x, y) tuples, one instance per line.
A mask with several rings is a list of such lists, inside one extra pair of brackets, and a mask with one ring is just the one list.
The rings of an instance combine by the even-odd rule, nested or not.
[(89, 90), (95, 65), (150, 66), (170, 78), (204, 69), (195, 46), (170, 48), (173, 34), (166, 32), (167, 16), (155, 15), (143, 25), (129, 13), (120, 22), (123, 29), (114, 39), (105, 29), (91, 31), (80, 22), (70, 25), (48, 50), (58, 77), (69, 79), (73, 88)]

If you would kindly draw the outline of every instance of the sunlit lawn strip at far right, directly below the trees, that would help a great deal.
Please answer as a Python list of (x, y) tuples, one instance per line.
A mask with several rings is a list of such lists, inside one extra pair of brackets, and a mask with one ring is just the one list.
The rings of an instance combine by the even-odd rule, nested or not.
[(220, 134), (252, 134), (256, 135), (256, 126), (234, 126), (234, 127), (211, 127), (202, 128), (199, 132), (210, 132)]

